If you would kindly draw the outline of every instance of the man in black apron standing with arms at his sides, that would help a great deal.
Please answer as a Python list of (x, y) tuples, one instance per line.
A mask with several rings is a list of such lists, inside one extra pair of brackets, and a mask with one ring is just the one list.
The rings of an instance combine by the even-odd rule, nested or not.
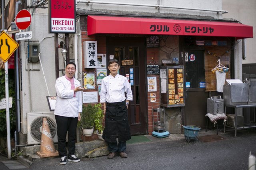
[(118, 153), (122, 158), (127, 158), (126, 141), (131, 138), (127, 109), (129, 101), (132, 101), (132, 90), (127, 78), (118, 74), (120, 65), (117, 59), (109, 60), (108, 69), (110, 75), (102, 79), (100, 91), (100, 103), (104, 105), (105, 114), (102, 137), (108, 143), (108, 159)]

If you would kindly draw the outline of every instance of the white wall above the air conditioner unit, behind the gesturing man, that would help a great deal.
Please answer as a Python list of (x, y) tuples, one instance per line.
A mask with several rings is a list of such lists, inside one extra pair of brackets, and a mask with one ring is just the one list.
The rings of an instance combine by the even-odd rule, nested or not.
[[(26, 30), (28, 31), (28, 30)], [(28, 63), (27, 59), (27, 40), (20, 41), (20, 55), (21, 55), (21, 72), (20, 77), (20, 104), (21, 104), (21, 130), (26, 133), (26, 113), (27, 112), (48, 112), (49, 107), (46, 100), (48, 91), (46, 88), (47, 82), (50, 95), (55, 96), (55, 60), (54, 60), (54, 34), (48, 34), (48, 14), (34, 13), (32, 15), (32, 23), (30, 25), (30, 31), (32, 31), (32, 39), (30, 42), (36, 41), (40, 45), (40, 58), (42, 61), (42, 67), (40, 62)], [(59, 39), (63, 41), (63, 39)], [(60, 55), (60, 69), (64, 68), (61, 49)]]

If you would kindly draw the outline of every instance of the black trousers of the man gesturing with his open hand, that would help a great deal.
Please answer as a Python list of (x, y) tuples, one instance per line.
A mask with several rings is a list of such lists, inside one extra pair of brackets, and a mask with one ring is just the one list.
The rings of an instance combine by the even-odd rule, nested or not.
[(58, 152), (60, 156), (67, 156), (66, 134), (68, 132), (68, 155), (75, 153), (76, 126), (78, 117), (63, 117), (55, 115), (58, 134)]

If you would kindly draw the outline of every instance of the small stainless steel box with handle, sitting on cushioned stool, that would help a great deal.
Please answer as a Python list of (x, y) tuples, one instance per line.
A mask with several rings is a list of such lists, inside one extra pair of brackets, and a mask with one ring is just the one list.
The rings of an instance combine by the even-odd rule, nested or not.
[(224, 113), (224, 99), (221, 99), (221, 96), (208, 98), (207, 113), (211, 113), (212, 115)]

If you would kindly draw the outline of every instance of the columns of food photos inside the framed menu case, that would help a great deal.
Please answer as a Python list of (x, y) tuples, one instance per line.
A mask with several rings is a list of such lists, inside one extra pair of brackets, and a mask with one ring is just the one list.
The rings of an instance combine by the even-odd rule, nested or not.
[(184, 103), (183, 68), (168, 69), (168, 104)]

